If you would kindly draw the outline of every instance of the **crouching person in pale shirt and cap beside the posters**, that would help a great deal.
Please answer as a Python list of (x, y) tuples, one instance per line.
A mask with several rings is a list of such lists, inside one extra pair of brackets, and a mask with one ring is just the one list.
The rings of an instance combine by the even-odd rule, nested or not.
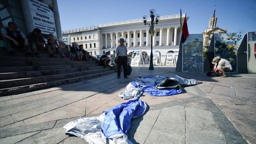
[(211, 61), (212, 64), (214, 64), (213, 73), (211, 73), (211, 76), (213, 76), (217, 71), (219, 72), (219, 76), (226, 77), (225, 72), (232, 71), (232, 66), (228, 62), (228, 60), (225, 60), (224, 58), (215, 57)]

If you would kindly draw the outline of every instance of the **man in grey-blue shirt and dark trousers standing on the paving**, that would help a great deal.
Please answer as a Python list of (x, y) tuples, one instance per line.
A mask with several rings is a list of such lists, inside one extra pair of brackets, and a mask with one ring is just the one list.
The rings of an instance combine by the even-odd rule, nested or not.
[(121, 76), (121, 66), (123, 67), (123, 71), (124, 71), (124, 78), (128, 78), (126, 73), (125, 73), (125, 70), (126, 70), (126, 67), (127, 67), (127, 48), (126, 46), (124, 46), (124, 39), (123, 38), (120, 38), (119, 40), (120, 42), (120, 45), (117, 46), (117, 49), (116, 49), (116, 54), (117, 54), (117, 78), (120, 78)]

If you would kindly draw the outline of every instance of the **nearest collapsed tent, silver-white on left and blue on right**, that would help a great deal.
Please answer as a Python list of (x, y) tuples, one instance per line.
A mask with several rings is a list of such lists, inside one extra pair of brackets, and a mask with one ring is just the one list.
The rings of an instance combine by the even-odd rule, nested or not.
[(137, 98), (119, 104), (99, 117), (80, 118), (67, 123), (63, 128), (66, 134), (75, 135), (90, 144), (132, 144), (127, 132), (131, 119), (144, 114), (147, 104)]

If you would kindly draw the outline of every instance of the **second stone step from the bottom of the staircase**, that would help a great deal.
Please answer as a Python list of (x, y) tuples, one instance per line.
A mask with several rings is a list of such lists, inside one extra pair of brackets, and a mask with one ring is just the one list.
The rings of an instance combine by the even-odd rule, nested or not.
[(93, 67), (78, 67), (78, 68), (68, 68), (68, 69), (49, 69), (43, 71), (24, 71), (16, 73), (0, 73), (0, 80), (9, 80), (9, 79), (19, 79), (26, 77), (36, 77), (43, 75), (56, 75), (62, 73), (74, 73), (79, 71), (89, 71), (95, 69), (102, 69), (104, 66), (93, 66)]

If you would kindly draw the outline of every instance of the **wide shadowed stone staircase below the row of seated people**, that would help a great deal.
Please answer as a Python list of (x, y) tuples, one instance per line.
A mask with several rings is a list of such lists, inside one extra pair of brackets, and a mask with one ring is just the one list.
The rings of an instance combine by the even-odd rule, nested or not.
[[(63, 49), (64, 54), (69, 52)], [(97, 59), (75, 61), (70, 58), (50, 58), (39, 51), (40, 58), (25, 57), (16, 52), (9, 57), (6, 48), (0, 47), (0, 96), (13, 95), (43, 89), (60, 84), (79, 82), (114, 73), (111, 69), (98, 66)]]

